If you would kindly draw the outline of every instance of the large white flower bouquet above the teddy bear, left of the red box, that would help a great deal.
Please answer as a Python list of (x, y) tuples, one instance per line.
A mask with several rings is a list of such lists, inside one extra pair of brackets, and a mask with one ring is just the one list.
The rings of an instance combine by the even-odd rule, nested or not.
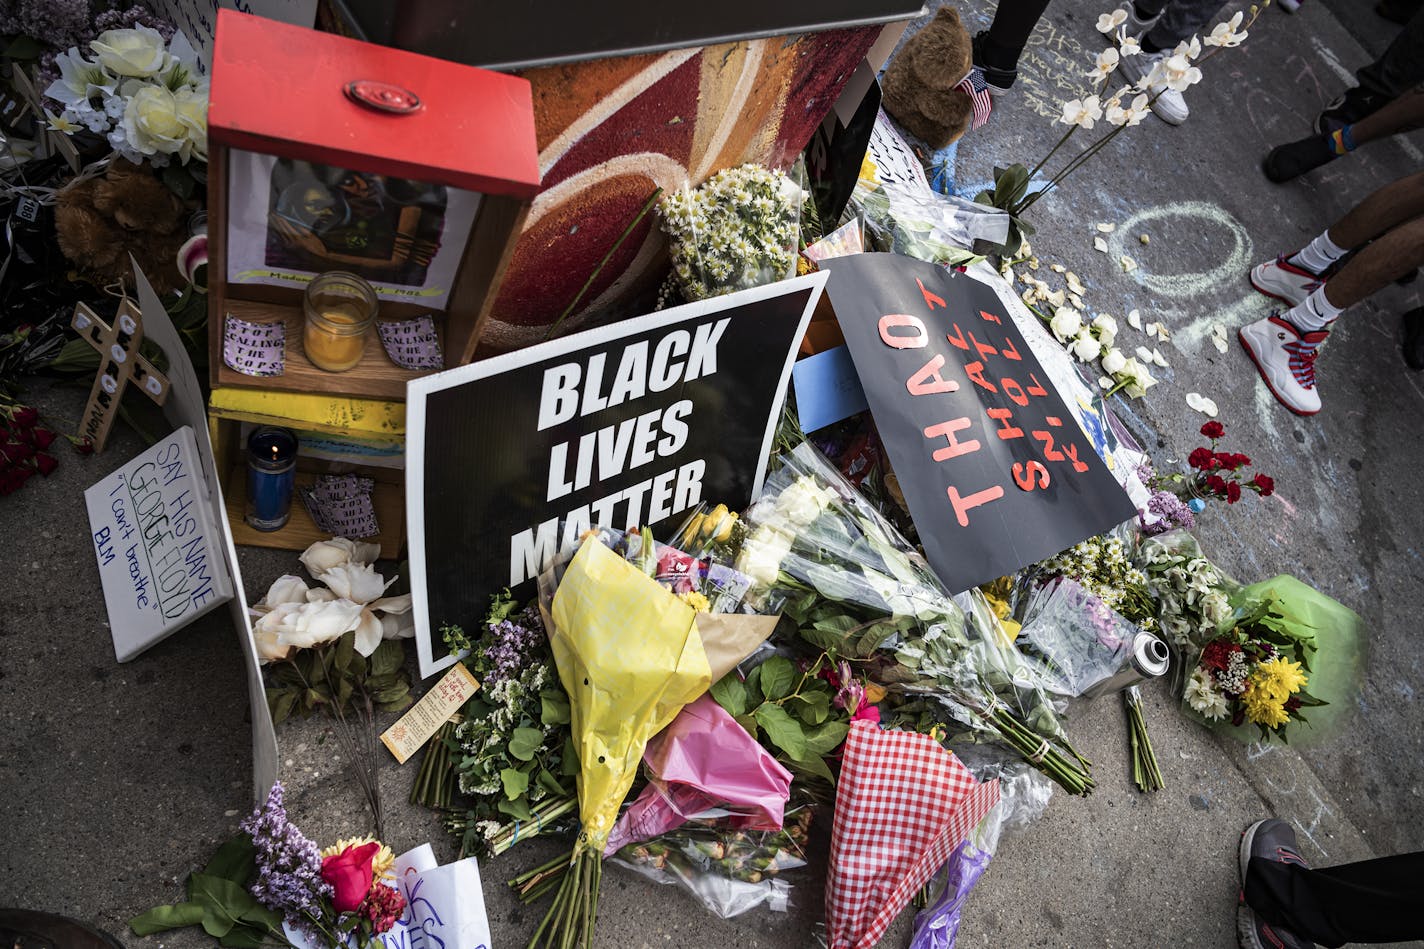
[(135, 23), (105, 30), (87, 46), (56, 57), (60, 78), (44, 90), (61, 107), (51, 128), (87, 128), (134, 164), (208, 160), (208, 80), (188, 37), (177, 31), (164, 38)]

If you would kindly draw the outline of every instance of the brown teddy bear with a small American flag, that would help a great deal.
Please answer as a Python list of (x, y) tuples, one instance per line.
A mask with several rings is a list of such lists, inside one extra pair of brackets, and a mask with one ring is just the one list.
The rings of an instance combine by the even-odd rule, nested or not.
[(974, 120), (973, 100), (960, 88), (971, 66), (968, 30), (954, 7), (940, 7), (886, 70), (886, 113), (936, 151), (958, 141)]

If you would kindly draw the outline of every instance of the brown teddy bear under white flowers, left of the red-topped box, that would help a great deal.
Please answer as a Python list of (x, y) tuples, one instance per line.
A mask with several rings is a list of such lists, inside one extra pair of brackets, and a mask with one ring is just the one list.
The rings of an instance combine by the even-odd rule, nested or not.
[(54, 229), (64, 256), (95, 284), (132, 289), (132, 254), (154, 289), (167, 294), (184, 284), (177, 258), (194, 209), (152, 170), (115, 158), (103, 177), (58, 192)]

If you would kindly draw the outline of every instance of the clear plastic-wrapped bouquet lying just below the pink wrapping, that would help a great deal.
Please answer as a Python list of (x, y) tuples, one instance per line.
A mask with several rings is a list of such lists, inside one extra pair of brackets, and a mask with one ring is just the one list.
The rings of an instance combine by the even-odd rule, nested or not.
[(738, 831), (692, 821), (641, 844), (629, 844), (611, 859), (648, 879), (686, 889), (712, 913), (731, 919), (758, 906), (785, 912), (792, 885), (782, 878), (806, 865), (812, 809), (786, 814), (780, 831)]

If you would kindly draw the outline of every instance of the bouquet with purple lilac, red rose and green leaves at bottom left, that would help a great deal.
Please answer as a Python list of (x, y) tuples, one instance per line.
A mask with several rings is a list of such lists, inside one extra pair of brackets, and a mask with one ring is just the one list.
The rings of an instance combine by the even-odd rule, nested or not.
[(135, 916), (134, 933), (202, 925), (225, 946), (365, 949), (390, 930), (406, 912), (390, 848), (352, 838), (319, 849), (288, 819), (282, 794), (272, 785), (241, 834), (188, 878), (187, 902)]

